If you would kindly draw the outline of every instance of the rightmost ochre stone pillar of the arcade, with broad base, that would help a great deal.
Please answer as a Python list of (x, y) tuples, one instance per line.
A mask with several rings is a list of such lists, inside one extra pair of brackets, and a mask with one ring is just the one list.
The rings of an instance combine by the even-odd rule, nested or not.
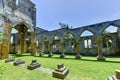
[(102, 54), (102, 37), (97, 37), (97, 47), (98, 47), (98, 60), (105, 60), (105, 57)]

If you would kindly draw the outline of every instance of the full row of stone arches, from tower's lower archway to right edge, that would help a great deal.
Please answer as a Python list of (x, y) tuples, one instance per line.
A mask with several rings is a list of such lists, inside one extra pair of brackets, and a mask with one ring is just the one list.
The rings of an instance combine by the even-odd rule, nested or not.
[[(111, 26), (116, 28), (116, 32), (106, 31)], [(11, 34), (12, 28), (15, 28), (18, 33)], [(48, 54), (49, 57), (57, 53), (60, 54), (60, 58), (72, 54), (76, 59), (80, 59), (81, 55), (94, 55), (98, 60), (105, 60), (104, 56), (107, 55), (120, 55), (120, 20), (53, 31), (36, 27), (35, 32), (30, 32), (28, 28), (24, 22), (13, 27), (5, 23), (4, 29), (8, 31), (3, 34), (1, 58), (7, 58), (9, 52), (38, 53), (39, 56)], [(13, 36), (12, 43), (10, 43), (10, 35)]]

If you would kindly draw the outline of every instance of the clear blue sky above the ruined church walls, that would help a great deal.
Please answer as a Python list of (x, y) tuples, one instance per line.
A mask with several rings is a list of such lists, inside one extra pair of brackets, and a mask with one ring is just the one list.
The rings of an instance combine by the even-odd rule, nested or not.
[(59, 29), (59, 22), (73, 28), (120, 19), (120, 0), (31, 0), (37, 8), (37, 27)]

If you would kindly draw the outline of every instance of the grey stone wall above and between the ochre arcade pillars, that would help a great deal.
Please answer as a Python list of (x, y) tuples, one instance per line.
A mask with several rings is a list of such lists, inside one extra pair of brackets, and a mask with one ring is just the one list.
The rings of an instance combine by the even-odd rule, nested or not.
[[(43, 43), (44, 42), (44, 38), (47, 38), (48, 41), (52, 41), (54, 36), (58, 36), (60, 38), (60, 41), (58, 42), (58, 44), (60, 44), (61, 41), (64, 41), (64, 53), (66, 54), (76, 54), (76, 45), (75, 45), (75, 40), (79, 39), (79, 46), (80, 46), (80, 54), (82, 55), (98, 55), (98, 51), (100, 51), (100, 53), (104, 54), (104, 55), (120, 55), (120, 48), (119, 48), (119, 43), (120, 43), (120, 31), (118, 29), (117, 33), (111, 33), (111, 34), (107, 34), (108, 36), (110, 36), (113, 40), (112, 40), (112, 47), (103, 47), (103, 38), (104, 35), (102, 34), (103, 31), (108, 28), (109, 26), (115, 26), (120, 28), (120, 20), (113, 20), (113, 21), (106, 21), (106, 22), (102, 22), (102, 23), (98, 23), (98, 24), (93, 24), (93, 25), (89, 25), (89, 26), (83, 26), (83, 27), (78, 27), (78, 28), (74, 28), (74, 29), (70, 29), (70, 28), (61, 28), (61, 29), (57, 29), (57, 30), (53, 30), (53, 31), (45, 31), (45, 32), (39, 32), (37, 31), (37, 33), (35, 34), (35, 40), (38, 40), (39, 43)], [(81, 37), (81, 34), (84, 31), (90, 31), (91, 33), (93, 33), (93, 36), (84, 36)], [(65, 35), (67, 33), (70, 33), (74, 36), (74, 42), (71, 42), (70, 40), (66, 41), (64, 39)], [(97, 40), (100, 38), (100, 42)], [(84, 40), (91, 40), (91, 46), (88, 46), (88, 48), (85, 48), (84, 45)], [(43, 44), (44, 45), (44, 44)], [(56, 47), (56, 49), (54, 49), (54, 47), (57, 46), (55, 44), (53, 44), (53, 52), (60, 53), (61, 51), (61, 45)], [(98, 46), (99, 49), (98, 50)], [(46, 49), (42, 48), (43, 52), (46, 52)], [(38, 52), (40, 53), (40, 52)]]

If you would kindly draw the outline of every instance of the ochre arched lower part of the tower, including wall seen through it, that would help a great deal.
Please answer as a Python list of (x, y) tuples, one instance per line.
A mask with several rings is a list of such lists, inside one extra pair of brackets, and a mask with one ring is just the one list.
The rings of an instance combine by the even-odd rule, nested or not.
[[(27, 52), (27, 46), (29, 46), (29, 51), (34, 55), (35, 53), (35, 43), (34, 43), (34, 31), (28, 32), (29, 25), (25, 22), (20, 22), (16, 24), (15, 26), (12, 26), (8, 23), (8, 21), (5, 21), (4, 23), (4, 32), (3, 32), (3, 38), (2, 38), (2, 44), (0, 45), (0, 58), (5, 59), (9, 57), (9, 53), (17, 53), (22, 54)], [(11, 36), (14, 34), (11, 33), (12, 29), (16, 29), (18, 31), (17, 34), (15, 34), (17, 39), (17, 43), (11, 44)], [(29, 42), (29, 44), (27, 44)], [(14, 46), (15, 49), (12, 49)]]

